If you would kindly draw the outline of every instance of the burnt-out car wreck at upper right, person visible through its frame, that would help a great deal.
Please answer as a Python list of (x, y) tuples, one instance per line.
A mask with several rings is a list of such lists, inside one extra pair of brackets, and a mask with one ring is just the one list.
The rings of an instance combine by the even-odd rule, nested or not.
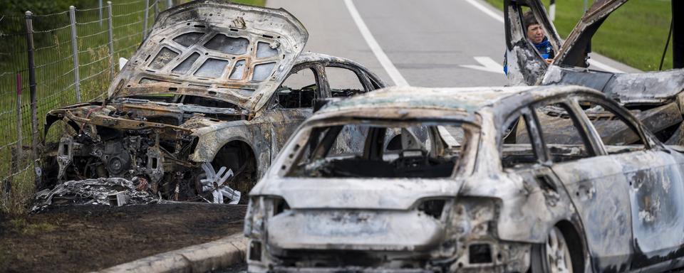
[[(594, 1), (565, 41), (546, 16), (539, 0), (505, 0), (504, 19), (507, 46), (507, 77), (511, 85), (582, 85), (599, 90), (641, 119), (643, 124), (667, 144), (684, 144), (684, 28), (673, 28), (673, 70), (644, 73), (611, 73), (589, 69), (591, 40), (616, 9), (627, 0)], [(675, 14), (684, 5), (673, 3)], [(527, 26), (522, 20), (532, 11), (544, 29), (556, 58), (550, 65), (527, 39)], [(665, 37), (663, 37), (665, 39)], [(660, 48), (660, 45), (654, 48)], [(664, 55), (663, 55), (664, 57)], [(587, 113), (590, 118), (609, 115), (606, 112)], [(618, 132), (616, 132), (618, 134)]]

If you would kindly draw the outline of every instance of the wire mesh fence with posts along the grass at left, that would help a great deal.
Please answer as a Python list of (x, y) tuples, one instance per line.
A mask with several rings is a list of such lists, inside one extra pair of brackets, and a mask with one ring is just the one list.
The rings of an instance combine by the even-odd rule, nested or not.
[(56, 14), (0, 16), (0, 210), (31, 196), (46, 113), (105, 97), (170, 0), (98, 1)]

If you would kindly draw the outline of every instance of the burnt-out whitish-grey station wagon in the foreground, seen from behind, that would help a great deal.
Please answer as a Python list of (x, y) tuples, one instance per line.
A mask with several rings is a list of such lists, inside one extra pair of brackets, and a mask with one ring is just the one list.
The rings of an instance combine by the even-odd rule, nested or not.
[[(628, 137), (585, 105), (613, 113)], [(559, 137), (558, 123), (577, 137)], [(396, 130), (400, 149), (387, 149)], [(362, 142), (339, 152), (346, 131)], [(682, 151), (580, 86), (389, 87), (334, 102), (249, 193), (249, 272), (682, 267)]]

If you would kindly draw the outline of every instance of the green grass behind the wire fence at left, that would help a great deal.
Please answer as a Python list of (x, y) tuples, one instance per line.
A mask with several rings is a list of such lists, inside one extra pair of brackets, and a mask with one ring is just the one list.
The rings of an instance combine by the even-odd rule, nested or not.
[[(153, 3), (154, 1), (150, 1)], [(160, 5), (166, 1), (159, 1)], [(241, 4), (264, 6), (265, 0), (237, 0)], [(76, 31), (78, 36), (78, 61), (81, 79), (81, 102), (97, 100), (113, 79), (110, 66), (118, 58), (130, 58), (142, 41), (143, 10), (145, 1), (113, 1), (113, 58), (109, 53), (108, 21), (106, 7), (105, 21), (100, 23), (99, 9), (77, 7)], [(160, 6), (159, 10), (165, 9)], [(150, 31), (156, 16), (151, 6), (147, 17), (147, 31)], [(33, 18), (35, 33), (34, 58), (36, 65), (36, 108), (38, 121), (34, 137), (41, 136), (45, 114), (56, 107), (76, 103), (76, 88), (73, 85), (73, 51), (68, 13), (36, 15)], [(0, 211), (10, 215), (25, 213), (33, 198), (34, 167), (36, 161), (31, 154), (31, 101), (28, 88), (28, 55), (26, 53), (26, 30), (24, 14), (0, 18), (0, 186), (11, 183), (11, 192), (0, 190)], [(113, 62), (113, 63), (110, 63)], [(17, 82), (16, 75), (21, 75)], [(16, 109), (16, 88), (21, 85), (21, 109)], [(21, 128), (17, 120), (21, 117)], [(12, 156), (21, 132), (21, 161)], [(16, 150), (16, 149), (15, 149)], [(17, 154), (16, 152), (14, 154)], [(1, 189), (2, 187), (0, 187)]]

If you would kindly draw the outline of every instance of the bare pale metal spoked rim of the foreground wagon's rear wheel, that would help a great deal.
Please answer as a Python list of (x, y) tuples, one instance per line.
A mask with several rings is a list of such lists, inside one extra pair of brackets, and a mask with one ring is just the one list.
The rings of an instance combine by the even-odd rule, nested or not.
[(546, 238), (546, 266), (551, 273), (572, 273), (570, 249), (563, 233), (554, 227)]

